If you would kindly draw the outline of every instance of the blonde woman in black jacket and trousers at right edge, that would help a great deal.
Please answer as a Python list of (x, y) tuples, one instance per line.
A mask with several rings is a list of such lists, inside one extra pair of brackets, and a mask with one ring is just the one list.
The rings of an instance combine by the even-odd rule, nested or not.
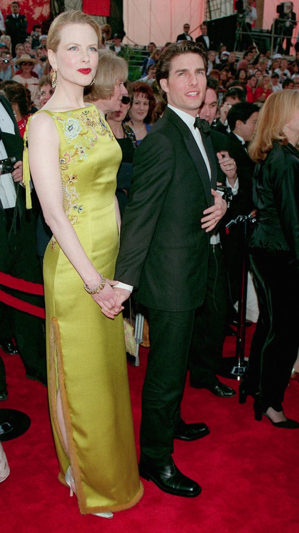
[(240, 403), (255, 397), (255, 419), (295, 429), (281, 403), (299, 345), (299, 91), (273, 93), (260, 111), (248, 150), (260, 213), (251, 241), (251, 268), (260, 316)]

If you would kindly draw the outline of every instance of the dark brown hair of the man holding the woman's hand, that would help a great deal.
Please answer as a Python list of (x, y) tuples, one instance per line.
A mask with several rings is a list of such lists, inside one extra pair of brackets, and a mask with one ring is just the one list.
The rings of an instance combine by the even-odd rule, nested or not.
[(166, 98), (166, 94), (161, 89), (160, 80), (168, 79), (171, 60), (182, 54), (198, 54), (202, 57), (205, 71), (207, 70), (207, 51), (200, 43), (193, 41), (181, 41), (180, 43), (171, 43), (163, 50), (160, 60), (157, 63), (156, 80), (160, 88), (161, 95)]

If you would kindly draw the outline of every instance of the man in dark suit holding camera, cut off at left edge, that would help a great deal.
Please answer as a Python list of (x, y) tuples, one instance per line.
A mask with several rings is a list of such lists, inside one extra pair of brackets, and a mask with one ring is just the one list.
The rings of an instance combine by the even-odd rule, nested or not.
[[(26, 211), (25, 189), (21, 187), (23, 140), (15, 122), (10, 103), (0, 96), (0, 159), (15, 157), (14, 171), (0, 176), (0, 271), (27, 281), (41, 282), (36, 257), (36, 214)], [(3, 290), (43, 306), (40, 296)], [(7, 353), (15, 352), (11, 335), (17, 345), (27, 377), (46, 384), (45, 336), (40, 318), (6, 306), (0, 302), (0, 346)], [(0, 367), (0, 399), (5, 393), (4, 366)], [(7, 395), (4, 394), (4, 396)]]

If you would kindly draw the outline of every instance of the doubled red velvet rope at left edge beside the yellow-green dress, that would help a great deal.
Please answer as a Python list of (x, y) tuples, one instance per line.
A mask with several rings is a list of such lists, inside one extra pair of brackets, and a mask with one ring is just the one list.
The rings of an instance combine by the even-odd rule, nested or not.
[[(10, 287), (11, 289), (21, 290), (23, 293), (38, 294), (40, 296), (44, 295), (43, 285), (20, 278), (14, 278), (13, 276), (5, 274), (4, 272), (0, 272), (0, 285)], [(15, 309), (19, 309), (20, 311), (24, 311), (25, 313), (33, 314), (35, 317), (45, 318), (44, 308), (41, 308), (38, 305), (33, 305), (32, 303), (24, 302), (23, 300), (19, 300), (19, 298), (16, 298), (11, 294), (7, 294), (1, 289), (0, 302), (10, 305)]]

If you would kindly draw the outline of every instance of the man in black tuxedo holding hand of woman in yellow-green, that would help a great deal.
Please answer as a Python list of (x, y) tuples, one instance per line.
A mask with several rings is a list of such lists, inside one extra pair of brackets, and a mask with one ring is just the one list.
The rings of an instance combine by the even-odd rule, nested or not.
[[(138, 289), (137, 301), (148, 311), (151, 349), (142, 395), (140, 475), (165, 492), (188, 497), (201, 488), (173, 463), (173, 439), (209, 433), (205, 424), (182, 421), (180, 401), (189, 349), (196, 351), (201, 333), (202, 305), (207, 294), (210, 303), (222, 294), (215, 277), (217, 264), (222, 269), (221, 248), (213, 233), (227, 207), (215, 192), (211, 140), (196, 119), (206, 68), (207, 53), (193, 42), (171, 44), (161, 54), (156, 79), (168, 107), (134, 157), (113, 310), (117, 313), (128, 298), (126, 284)], [(210, 312), (216, 322), (217, 311)]]

